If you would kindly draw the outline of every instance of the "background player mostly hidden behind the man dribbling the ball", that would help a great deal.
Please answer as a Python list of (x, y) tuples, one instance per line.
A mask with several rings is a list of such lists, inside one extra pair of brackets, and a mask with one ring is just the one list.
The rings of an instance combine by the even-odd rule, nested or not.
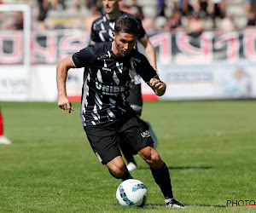
[[(143, 47), (145, 49), (145, 53), (148, 57), (148, 60), (150, 64), (154, 67), (154, 70), (156, 69), (156, 59), (155, 59), (155, 51), (154, 46), (150, 41), (148, 40), (148, 36), (146, 32), (143, 29), (142, 21), (133, 14), (128, 14), (119, 9), (119, 3), (122, 0), (102, 0), (102, 7), (104, 9), (104, 12), (106, 14), (102, 15), (100, 18), (96, 19), (91, 26), (91, 33), (90, 33), (90, 43), (96, 44), (96, 43), (102, 43), (102, 42), (108, 42), (113, 41), (112, 32), (114, 23), (116, 20), (118, 20), (120, 17), (128, 16), (133, 19), (136, 19), (140, 25), (141, 25), (141, 32), (138, 37), (138, 40), (140, 43), (143, 44)], [(139, 75), (137, 75), (132, 81), (131, 81), (131, 89), (130, 89), (130, 95), (128, 97), (128, 101), (131, 104), (132, 109), (137, 113), (137, 116), (140, 117), (142, 114), (143, 109), (143, 97), (142, 97), (142, 88), (141, 88), (141, 81)], [(151, 124), (145, 121), (143, 121), (143, 125), (149, 130), (151, 136), (154, 140), (154, 147), (157, 146), (157, 138), (154, 135), (154, 131), (151, 128)], [(137, 169), (137, 163), (135, 159), (133, 158), (132, 153), (129, 151), (129, 147), (125, 147), (125, 143), (123, 141), (119, 140), (119, 146), (124, 153), (124, 156), (128, 162), (127, 169), (128, 170), (136, 170)]]

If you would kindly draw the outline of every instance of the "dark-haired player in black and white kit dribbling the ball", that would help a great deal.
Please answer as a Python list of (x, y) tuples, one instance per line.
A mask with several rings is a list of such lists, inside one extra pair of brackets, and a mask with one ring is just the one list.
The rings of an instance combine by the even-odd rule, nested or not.
[(113, 42), (90, 44), (61, 60), (56, 69), (58, 106), (73, 111), (67, 98), (67, 72), (70, 68), (84, 67), (87, 78), (84, 78), (80, 118), (98, 160), (107, 165), (113, 177), (122, 181), (132, 178), (116, 141), (116, 135), (119, 135), (132, 147), (133, 153), (138, 153), (150, 166), (166, 206), (185, 208), (173, 198), (169, 170), (155, 151), (149, 131), (127, 101), (131, 79), (137, 73), (156, 95), (166, 92), (166, 83), (160, 81), (147, 58), (133, 48), (140, 30), (137, 20), (122, 17), (112, 32)]

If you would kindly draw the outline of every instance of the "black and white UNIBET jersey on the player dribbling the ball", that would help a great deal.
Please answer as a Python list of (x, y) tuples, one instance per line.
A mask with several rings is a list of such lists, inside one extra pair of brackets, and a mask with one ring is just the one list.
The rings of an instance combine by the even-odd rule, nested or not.
[(132, 49), (125, 58), (116, 57), (112, 42), (89, 45), (72, 56), (77, 68), (84, 67), (81, 119), (84, 126), (119, 119), (131, 109), (127, 97), (131, 80), (139, 74), (145, 82), (157, 75), (147, 58)]

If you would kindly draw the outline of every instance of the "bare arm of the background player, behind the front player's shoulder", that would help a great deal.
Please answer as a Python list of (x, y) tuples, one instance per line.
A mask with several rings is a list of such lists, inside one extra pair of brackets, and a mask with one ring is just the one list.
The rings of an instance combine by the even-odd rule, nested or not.
[[(145, 49), (145, 53), (148, 57), (148, 61), (151, 64), (151, 66), (154, 67), (154, 70), (157, 72), (157, 66), (156, 66), (156, 57), (155, 57), (155, 51), (153, 44), (149, 41), (148, 36), (145, 35), (144, 37), (139, 39), (140, 43), (143, 44), (143, 47)], [(159, 73), (157, 72), (159, 75)]]

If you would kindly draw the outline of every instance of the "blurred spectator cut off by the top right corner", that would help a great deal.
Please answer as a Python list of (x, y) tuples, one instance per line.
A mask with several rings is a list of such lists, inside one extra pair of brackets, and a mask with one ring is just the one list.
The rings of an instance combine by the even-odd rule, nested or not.
[(247, 26), (256, 26), (256, 0), (243, 0)]

